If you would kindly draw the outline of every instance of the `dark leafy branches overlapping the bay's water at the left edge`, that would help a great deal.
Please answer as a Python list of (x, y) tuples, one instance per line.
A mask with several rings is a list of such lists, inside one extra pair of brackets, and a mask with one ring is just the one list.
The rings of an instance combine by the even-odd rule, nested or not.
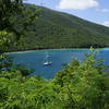
[(13, 59), (8, 53), (0, 55), (0, 76), (14, 77), (14, 76), (28, 76), (33, 70), (25, 68), (21, 64), (14, 64)]

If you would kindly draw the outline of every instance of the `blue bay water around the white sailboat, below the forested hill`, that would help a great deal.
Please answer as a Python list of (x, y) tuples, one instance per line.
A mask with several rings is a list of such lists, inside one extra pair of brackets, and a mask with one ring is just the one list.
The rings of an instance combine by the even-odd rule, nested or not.
[[(52, 61), (51, 65), (45, 66), (46, 53), (48, 52), (49, 60)], [(88, 52), (88, 49), (59, 49), (59, 50), (36, 50), (26, 52), (12, 52), (10, 56), (13, 57), (16, 64), (23, 64), (27, 68), (34, 69), (33, 75), (39, 75), (46, 78), (51, 78), (56, 73), (62, 70), (64, 63), (70, 63), (72, 59), (78, 59), (82, 61), (84, 55)], [(102, 49), (99, 51), (100, 57), (105, 60), (106, 65), (109, 65), (109, 49)]]

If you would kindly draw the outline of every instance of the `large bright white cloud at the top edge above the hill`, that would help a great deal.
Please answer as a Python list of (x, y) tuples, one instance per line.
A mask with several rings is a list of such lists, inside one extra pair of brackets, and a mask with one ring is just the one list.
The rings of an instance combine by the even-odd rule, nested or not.
[(93, 7), (98, 7), (97, 0), (60, 0), (58, 9), (74, 9), (85, 10)]

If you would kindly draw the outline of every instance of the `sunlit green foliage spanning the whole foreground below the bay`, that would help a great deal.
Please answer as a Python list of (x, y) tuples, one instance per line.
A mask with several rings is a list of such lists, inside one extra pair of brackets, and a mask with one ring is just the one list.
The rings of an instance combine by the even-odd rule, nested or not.
[(0, 71), (0, 108), (108, 109), (109, 76), (98, 63), (90, 52), (83, 62), (72, 61), (51, 81), (21, 75), (17, 70), (15, 76), (8, 77)]

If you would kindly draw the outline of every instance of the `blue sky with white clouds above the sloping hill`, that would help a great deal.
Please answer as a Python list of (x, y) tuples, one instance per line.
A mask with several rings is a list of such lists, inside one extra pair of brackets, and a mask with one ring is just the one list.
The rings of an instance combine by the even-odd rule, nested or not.
[(109, 0), (26, 0), (109, 27)]

